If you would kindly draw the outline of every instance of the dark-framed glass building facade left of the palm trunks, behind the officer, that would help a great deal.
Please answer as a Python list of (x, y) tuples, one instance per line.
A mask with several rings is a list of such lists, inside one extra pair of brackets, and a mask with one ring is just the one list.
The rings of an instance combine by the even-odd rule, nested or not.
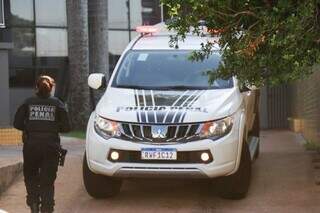
[[(33, 94), (36, 76), (57, 80), (64, 98), (68, 71), (66, 0), (0, 0), (0, 125), (12, 125), (14, 113)], [(4, 13), (2, 13), (4, 12)], [(3, 16), (2, 16), (3, 14)], [(10, 50), (1, 45), (10, 44)], [(2, 45), (3, 46), (3, 45)]]

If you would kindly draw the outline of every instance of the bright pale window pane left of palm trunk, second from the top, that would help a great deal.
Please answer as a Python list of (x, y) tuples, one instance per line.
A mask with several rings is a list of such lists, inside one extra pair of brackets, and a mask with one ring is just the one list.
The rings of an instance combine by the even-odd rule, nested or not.
[(37, 57), (68, 56), (66, 29), (37, 28)]

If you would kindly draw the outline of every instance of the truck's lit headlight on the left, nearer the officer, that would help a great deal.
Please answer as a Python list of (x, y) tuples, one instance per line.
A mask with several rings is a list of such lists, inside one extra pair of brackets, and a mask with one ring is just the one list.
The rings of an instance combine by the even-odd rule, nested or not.
[(96, 115), (95, 117), (94, 129), (100, 136), (106, 139), (120, 136), (121, 134), (119, 130), (119, 123), (107, 120), (99, 115)]

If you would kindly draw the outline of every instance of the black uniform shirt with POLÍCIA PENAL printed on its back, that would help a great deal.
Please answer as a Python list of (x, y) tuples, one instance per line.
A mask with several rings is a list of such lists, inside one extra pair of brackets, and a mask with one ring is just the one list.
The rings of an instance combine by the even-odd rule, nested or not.
[(70, 131), (65, 105), (55, 97), (31, 97), (18, 108), (14, 127), (28, 136), (56, 135)]

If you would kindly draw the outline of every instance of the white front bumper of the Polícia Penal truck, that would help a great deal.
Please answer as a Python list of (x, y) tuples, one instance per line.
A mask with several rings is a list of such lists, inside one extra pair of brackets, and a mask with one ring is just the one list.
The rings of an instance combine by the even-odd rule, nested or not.
[[(239, 134), (240, 119), (237, 120), (228, 135), (215, 141), (204, 139), (183, 144), (153, 145), (116, 138), (105, 140), (95, 132), (91, 117), (86, 141), (88, 166), (94, 173), (121, 178), (213, 178), (230, 175), (237, 170), (242, 144), (239, 140), (242, 138)], [(142, 148), (154, 147), (175, 148), (178, 153), (208, 150), (213, 160), (210, 163), (160, 163), (112, 162), (108, 159), (113, 149), (140, 152)]]

